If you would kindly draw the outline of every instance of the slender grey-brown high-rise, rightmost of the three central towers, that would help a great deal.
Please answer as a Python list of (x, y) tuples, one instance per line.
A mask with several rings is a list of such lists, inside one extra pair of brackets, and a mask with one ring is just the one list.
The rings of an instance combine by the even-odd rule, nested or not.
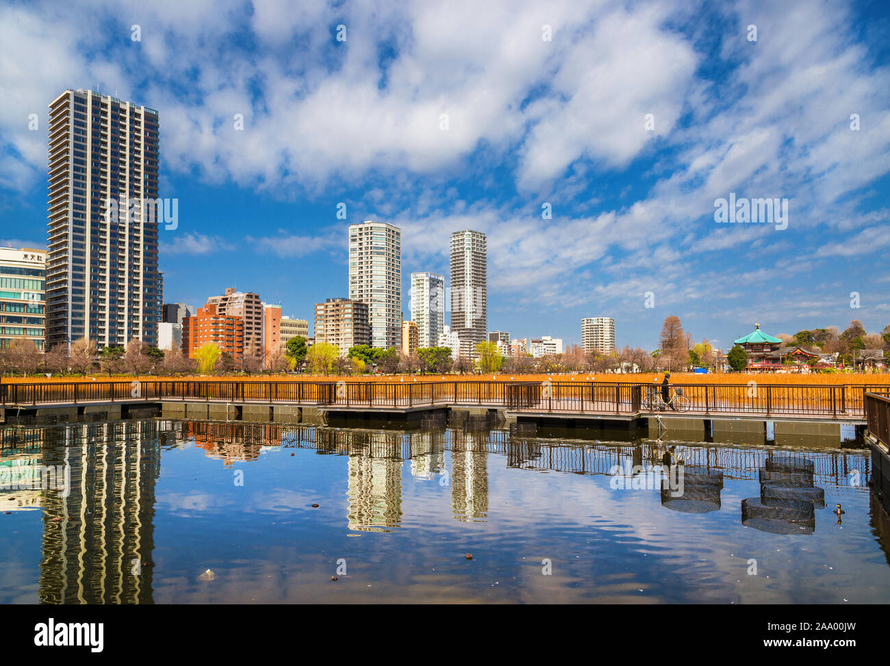
[(481, 231), (451, 234), (451, 332), (461, 356), (473, 357), (488, 329), (488, 252)]

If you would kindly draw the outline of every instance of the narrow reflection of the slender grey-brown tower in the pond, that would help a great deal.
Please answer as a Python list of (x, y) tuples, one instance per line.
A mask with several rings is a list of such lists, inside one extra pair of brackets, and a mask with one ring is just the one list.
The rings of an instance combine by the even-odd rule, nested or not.
[(461, 521), (484, 518), (489, 510), (487, 435), (454, 431), (451, 436), (451, 510)]

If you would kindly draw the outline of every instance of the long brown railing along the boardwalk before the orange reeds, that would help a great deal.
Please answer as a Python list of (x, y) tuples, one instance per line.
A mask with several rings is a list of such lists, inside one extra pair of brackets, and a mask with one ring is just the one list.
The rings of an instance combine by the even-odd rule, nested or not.
[[(622, 382), (504, 381), (233, 381), (133, 380), (0, 384), (0, 404), (37, 406), (79, 402), (198, 400), (289, 402), (336, 407), (404, 409), (479, 404), (509, 410), (635, 414), (655, 384)], [(862, 418), (867, 394), (890, 397), (890, 386), (677, 384), (700, 414)]]

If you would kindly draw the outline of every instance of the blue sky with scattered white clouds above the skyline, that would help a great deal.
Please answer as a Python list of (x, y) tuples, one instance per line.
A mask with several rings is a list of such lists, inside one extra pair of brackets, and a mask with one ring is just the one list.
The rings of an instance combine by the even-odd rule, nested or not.
[[(13, 2), (0, 44), (0, 242), (45, 244), (47, 104), (98, 86), (159, 113), (166, 302), (234, 285), (311, 318), (377, 219), (406, 319), (410, 272), (447, 276), (472, 228), (514, 337), (890, 323), (886, 3)], [(788, 199), (787, 228), (716, 223), (731, 192)]]

